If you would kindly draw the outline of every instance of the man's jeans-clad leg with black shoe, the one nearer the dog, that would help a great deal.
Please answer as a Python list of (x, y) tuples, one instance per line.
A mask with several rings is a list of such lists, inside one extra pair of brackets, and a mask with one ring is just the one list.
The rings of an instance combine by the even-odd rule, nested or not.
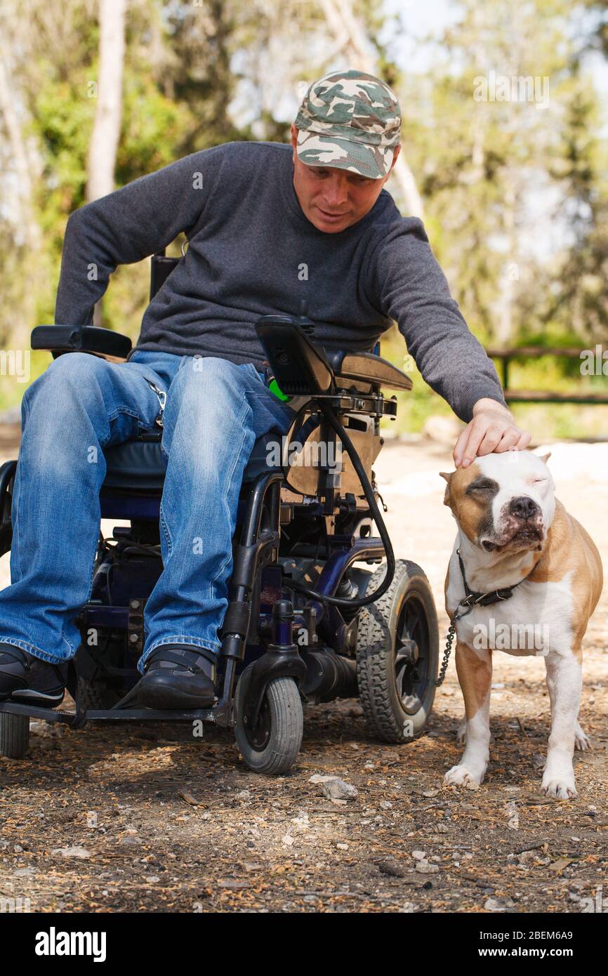
[(164, 569), (145, 605), (138, 666), (145, 704), (204, 707), (213, 700), (243, 472), (255, 441), (271, 429), (286, 432), (294, 417), (251, 364), (187, 357), (175, 377), (164, 415)]

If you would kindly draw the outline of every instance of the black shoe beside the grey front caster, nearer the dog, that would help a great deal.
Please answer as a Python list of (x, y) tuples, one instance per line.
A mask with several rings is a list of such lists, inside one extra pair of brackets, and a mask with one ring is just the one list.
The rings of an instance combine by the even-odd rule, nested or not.
[(127, 698), (148, 709), (209, 709), (216, 697), (216, 661), (206, 647), (163, 644), (152, 651)]

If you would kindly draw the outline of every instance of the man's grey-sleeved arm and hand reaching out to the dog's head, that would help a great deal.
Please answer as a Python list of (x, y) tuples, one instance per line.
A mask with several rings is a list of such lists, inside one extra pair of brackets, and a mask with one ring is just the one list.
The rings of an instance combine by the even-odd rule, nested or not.
[(454, 449), (458, 468), (476, 455), (523, 449), (496, 368), (468, 329), (417, 218), (391, 229), (378, 250), (376, 283), (385, 315), (394, 318), (423, 379), (466, 423)]

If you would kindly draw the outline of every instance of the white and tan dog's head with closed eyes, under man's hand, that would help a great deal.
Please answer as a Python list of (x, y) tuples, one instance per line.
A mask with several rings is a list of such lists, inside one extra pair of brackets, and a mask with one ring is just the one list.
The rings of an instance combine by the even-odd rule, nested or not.
[(496, 553), (542, 547), (555, 511), (548, 458), (505, 451), (449, 474), (441, 471), (444, 505), (474, 546)]

